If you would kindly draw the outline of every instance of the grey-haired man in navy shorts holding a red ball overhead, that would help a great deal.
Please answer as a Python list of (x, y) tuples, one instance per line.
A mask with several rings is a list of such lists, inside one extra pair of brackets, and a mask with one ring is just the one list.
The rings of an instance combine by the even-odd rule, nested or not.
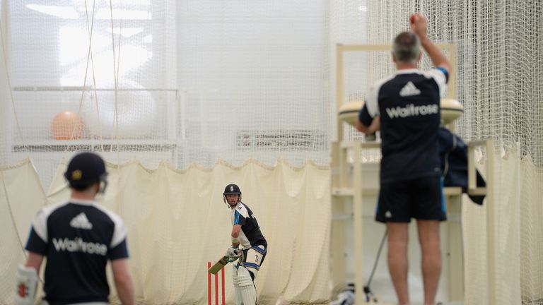
[[(448, 59), (426, 35), (426, 18), (411, 16), (411, 32), (401, 32), (392, 47), (397, 71), (375, 83), (361, 109), (356, 129), (380, 129), (382, 160), (375, 220), (385, 222), (388, 268), (400, 305), (409, 304), (408, 224), (416, 219), (422, 250), (424, 304), (435, 304), (441, 270), (439, 222), (445, 220), (440, 179), (438, 128), (440, 98), (449, 78)], [(420, 71), (421, 47), (435, 66)]]

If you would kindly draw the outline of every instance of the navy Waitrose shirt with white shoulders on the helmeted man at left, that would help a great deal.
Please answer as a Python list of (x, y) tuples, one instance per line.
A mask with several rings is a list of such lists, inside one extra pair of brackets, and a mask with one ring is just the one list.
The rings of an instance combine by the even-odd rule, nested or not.
[(51, 305), (107, 302), (107, 261), (127, 258), (121, 218), (94, 201), (42, 208), (26, 250), (47, 256), (45, 299)]

